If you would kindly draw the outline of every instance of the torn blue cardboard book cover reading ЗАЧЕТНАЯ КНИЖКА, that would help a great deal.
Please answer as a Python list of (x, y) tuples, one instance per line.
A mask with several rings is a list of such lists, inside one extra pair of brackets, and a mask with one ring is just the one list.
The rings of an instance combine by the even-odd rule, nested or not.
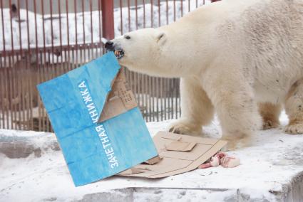
[(38, 85), (76, 186), (158, 155), (140, 110), (130, 105), (133, 98), (119, 70), (115, 55), (108, 53)]

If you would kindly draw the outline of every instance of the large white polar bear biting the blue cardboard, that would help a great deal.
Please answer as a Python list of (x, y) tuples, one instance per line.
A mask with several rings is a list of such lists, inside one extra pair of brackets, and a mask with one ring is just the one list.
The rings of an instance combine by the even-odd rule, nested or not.
[[(230, 148), (262, 126), (303, 134), (303, 1), (225, 0), (175, 23), (106, 43), (120, 65), (181, 78), (181, 118), (170, 132), (199, 135), (214, 113)], [(237, 145), (237, 146), (238, 146)]]

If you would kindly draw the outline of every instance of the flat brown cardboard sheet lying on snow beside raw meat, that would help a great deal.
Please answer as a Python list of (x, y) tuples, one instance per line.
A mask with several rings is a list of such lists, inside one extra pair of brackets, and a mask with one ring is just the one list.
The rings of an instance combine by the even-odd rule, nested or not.
[[(153, 137), (160, 161), (155, 164), (139, 164), (134, 171), (123, 171), (120, 176), (163, 178), (197, 169), (220, 151), (227, 142), (218, 139), (158, 132)], [(140, 171), (140, 172), (138, 172)]]

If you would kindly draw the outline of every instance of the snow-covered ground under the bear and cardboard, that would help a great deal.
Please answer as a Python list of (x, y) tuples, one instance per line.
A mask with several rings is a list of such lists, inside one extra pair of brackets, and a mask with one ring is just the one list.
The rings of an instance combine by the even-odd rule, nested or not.
[[(287, 124), (284, 113), (281, 121), (282, 127)], [(148, 123), (150, 133), (170, 122)], [(303, 201), (303, 136), (284, 134), (282, 127), (257, 132), (252, 147), (230, 151), (241, 159), (233, 169), (200, 169), (157, 180), (113, 176), (78, 188), (61, 151), (53, 147), (53, 134), (0, 129), (0, 143), (18, 139), (31, 145), (26, 151), (41, 151), (23, 159), (0, 153), (0, 201)], [(207, 137), (221, 133), (217, 120), (204, 131)]]

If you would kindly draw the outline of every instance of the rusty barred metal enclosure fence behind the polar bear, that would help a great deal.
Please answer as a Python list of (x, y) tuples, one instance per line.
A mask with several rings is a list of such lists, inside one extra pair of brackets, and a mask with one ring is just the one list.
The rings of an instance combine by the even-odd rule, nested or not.
[[(103, 37), (163, 26), (205, 3), (209, 2), (0, 0), (0, 128), (51, 132), (38, 83), (103, 55)], [(145, 121), (180, 116), (177, 78), (128, 70), (125, 74)]]

